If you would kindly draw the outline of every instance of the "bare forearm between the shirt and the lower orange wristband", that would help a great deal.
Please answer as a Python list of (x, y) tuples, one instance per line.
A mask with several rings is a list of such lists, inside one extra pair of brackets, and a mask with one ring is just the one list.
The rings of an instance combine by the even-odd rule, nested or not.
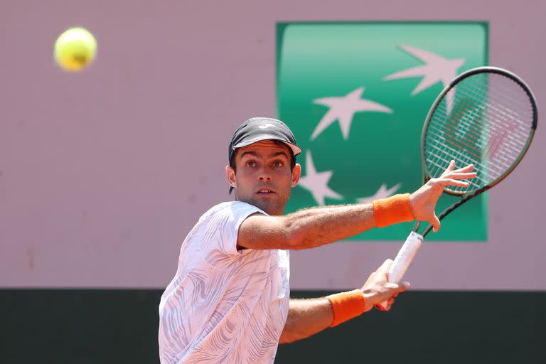
[(307, 338), (328, 328), (332, 321), (333, 311), (328, 299), (291, 299), (279, 343)]

